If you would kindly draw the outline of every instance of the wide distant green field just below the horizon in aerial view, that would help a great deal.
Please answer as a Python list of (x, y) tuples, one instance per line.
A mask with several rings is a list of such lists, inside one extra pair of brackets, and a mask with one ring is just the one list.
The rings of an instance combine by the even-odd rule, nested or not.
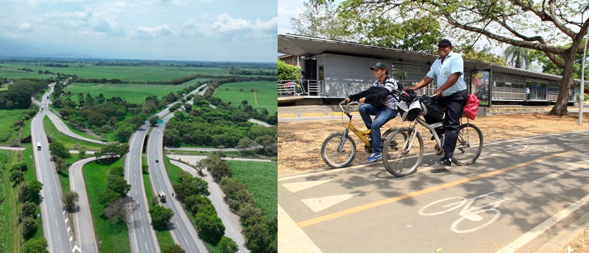
[[(42, 64), (49, 63), (43, 62)], [(0, 64), (4, 68), (22, 69), (29, 68), (37, 72), (49, 71), (53, 73), (77, 75), (85, 79), (121, 79), (124, 82), (147, 82), (147, 81), (169, 81), (187, 75), (229, 75), (229, 69), (204, 68), (204, 67), (181, 67), (181, 66), (96, 66), (69, 64), (69, 68), (48, 67), (44, 65), (24, 62), (8, 62)], [(14, 72), (14, 71), (13, 71)], [(24, 72), (23, 72), (24, 73)], [(47, 78), (45, 76), (42, 79)]]

